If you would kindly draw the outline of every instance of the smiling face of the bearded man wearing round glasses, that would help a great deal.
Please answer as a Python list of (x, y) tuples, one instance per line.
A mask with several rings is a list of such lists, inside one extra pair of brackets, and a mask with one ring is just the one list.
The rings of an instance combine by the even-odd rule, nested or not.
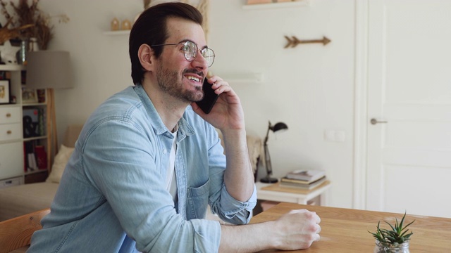
[[(167, 20), (168, 39), (163, 44), (193, 41), (198, 48), (206, 46), (204, 30), (195, 22), (180, 18)], [(182, 51), (183, 45), (164, 46), (156, 67), (156, 79), (161, 90), (184, 102), (199, 101), (204, 96), (202, 82), (207, 63), (197, 52), (197, 58), (187, 61)]]

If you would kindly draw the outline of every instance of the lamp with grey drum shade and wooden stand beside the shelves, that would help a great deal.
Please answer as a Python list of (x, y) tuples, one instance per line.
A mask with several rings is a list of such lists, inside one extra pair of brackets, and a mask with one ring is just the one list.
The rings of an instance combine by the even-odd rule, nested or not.
[(32, 51), (27, 53), (27, 89), (47, 89), (47, 161), (58, 153), (54, 89), (73, 88), (69, 52)]

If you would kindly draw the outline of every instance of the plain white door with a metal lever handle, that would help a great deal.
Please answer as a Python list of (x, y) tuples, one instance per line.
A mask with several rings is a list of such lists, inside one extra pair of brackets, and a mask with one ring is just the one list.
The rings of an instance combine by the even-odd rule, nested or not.
[(451, 217), (451, 1), (370, 0), (368, 50), (366, 209)]

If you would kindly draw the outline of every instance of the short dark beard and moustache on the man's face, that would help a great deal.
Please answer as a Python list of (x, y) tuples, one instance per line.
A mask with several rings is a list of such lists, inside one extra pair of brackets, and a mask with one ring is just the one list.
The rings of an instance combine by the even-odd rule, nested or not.
[[(158, 65), (156, 70), (156, 82), (158, 82), (160, 89), (168, 93), (168, 95), (187, 103), (197, 102), (204, 98), (202, 87), (196, 87), (194, 91), (183, 89), (183, 82), (181, 79), (178, 79), (179, 75), (177, 71), (163, 69), (163, 65), (161, 63)], [(199, 74), (196, 70), (184, 70), (183, 73)], [(203, 74), (201, 73), (200, 75)]]

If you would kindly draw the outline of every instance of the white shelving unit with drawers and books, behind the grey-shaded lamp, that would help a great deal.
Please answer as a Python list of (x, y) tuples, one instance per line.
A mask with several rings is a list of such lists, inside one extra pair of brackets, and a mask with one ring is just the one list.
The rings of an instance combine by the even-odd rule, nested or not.
[[(0, 188), (44, 181), (50, 166), (49, 162), (45, 164), (48, 155), (44, 154), (50, 145), (45, 117), (47, 90), (39, 93), (23, 90), (26, 88), (23, 65), (0, 65), (1, 80), (9, 81), (9, 92), (4, 97), (11, 99), (0, 104)], [(36, 147), (44, 150), (41, 152), (44, 158), (41, 155), (39, 162), (36, 160), (40, 169), (27, 169), (31, 159), (27, 154), (35, 153)]]

